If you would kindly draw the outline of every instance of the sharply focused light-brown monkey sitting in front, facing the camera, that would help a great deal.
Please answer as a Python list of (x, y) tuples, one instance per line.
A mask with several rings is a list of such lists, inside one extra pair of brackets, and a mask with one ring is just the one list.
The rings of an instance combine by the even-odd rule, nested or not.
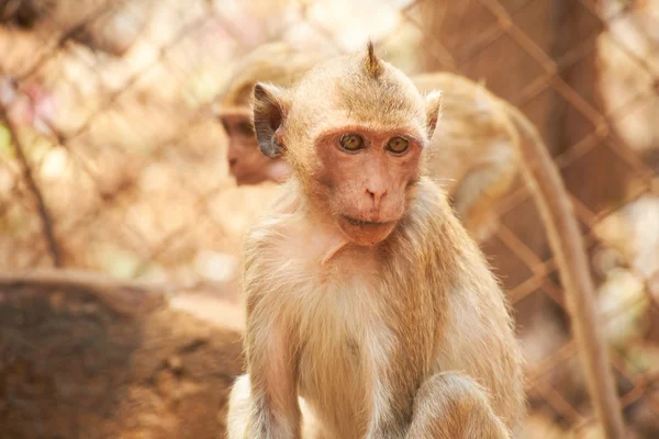
[(291, 178), (244, 245), (228, 438), (512, 437), (525, 403), (505, 296), (425, 171), (442, 94), (369, 44), (253, 99), (259, 149)]

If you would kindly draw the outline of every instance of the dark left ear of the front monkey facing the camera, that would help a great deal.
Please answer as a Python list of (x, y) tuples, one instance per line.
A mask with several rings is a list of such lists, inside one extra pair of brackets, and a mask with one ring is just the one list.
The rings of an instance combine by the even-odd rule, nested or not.
[(275, 86), (257, 82), (254, 86), (254, 131), (258, 147), (270, 158), (281, 156), (284, 145), (277, 131), (283, 124), (290, 102), (286, 93)]

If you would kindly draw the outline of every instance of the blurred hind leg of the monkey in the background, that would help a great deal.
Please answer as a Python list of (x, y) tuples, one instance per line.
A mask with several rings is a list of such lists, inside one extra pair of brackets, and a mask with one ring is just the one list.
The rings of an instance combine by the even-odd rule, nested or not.
[(493, 162), (469, 171), (456, 188), (455, 211), (477, 240), (485, 240), (494, 232), (492, 207), (509, 190), (515, 173), (510, 164)]

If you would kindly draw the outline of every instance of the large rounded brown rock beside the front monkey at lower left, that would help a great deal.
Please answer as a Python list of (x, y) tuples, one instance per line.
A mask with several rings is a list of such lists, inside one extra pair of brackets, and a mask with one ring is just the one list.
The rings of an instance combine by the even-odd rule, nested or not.
[(239, 330), (87, 273), (0, 277), (3, 439), (224, 437)]

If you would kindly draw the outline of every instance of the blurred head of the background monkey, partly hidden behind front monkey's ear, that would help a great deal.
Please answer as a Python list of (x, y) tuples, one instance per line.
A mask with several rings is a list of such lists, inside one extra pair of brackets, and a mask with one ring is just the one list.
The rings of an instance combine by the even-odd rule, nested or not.
[(226, 159), (238, 185), (280, 182), (290, 175), (286, 161), (268, 158), (258, 149), (249, 108), (254, 85), (290, 87), (320, 59), (320, 54), (277, 42), (259, 46), (234, 69), (221, 93), (216, 115), (228, 136)]

